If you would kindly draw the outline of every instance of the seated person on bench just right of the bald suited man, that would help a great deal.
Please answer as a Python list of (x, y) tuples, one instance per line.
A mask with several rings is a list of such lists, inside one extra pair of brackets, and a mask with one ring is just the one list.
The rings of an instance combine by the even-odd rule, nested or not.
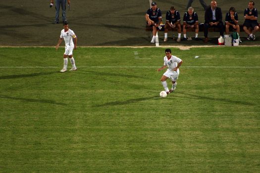
[(236, 13), (236, 8), (233, 6), (229, 8), (229, 12), (226, 13), (225, 18), (226, 23), (226, 34), (229, 35), (229, 30), (233, 28), (238, 34), (240, 34), (240, 28), (238, 24), (238, 15)]

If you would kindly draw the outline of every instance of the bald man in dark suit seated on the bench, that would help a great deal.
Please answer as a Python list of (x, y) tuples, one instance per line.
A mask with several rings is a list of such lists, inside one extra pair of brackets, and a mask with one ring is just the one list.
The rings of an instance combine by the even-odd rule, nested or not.
[(222, 11), (221, 8), (217, 7), (215, 0), (212, 0), (210, 7), (205, 11), (205, 23), (204, 23), (204, 42), (208, 42), (208, 28), (216, 27), (219, 28), (220, 36), (224, 37), (224, 25), (222, 22)]

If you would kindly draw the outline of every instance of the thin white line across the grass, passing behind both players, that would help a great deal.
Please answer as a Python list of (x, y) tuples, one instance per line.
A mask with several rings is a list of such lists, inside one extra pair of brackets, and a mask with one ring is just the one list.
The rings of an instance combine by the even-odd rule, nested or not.
[[(62, 66), (61, 66), (62, 67)], [(159, 68), (161, 66), (77, 66), (77, 68)], [(60, 66), (0, 66), (0, 69), (60, 68)], [(260, 68), (260, 66), (181, 66), (181, 68)]]

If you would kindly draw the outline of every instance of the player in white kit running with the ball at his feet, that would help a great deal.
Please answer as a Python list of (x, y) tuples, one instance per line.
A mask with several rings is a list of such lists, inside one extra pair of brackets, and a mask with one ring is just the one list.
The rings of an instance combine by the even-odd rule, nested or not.
[[(167, 71), (162, 75), (160, 81), (162, 84), (162, 87), (164, 88), (165, 92), (167, 94), (171, 93), (172, 91), (174, 91), (174, 89), (176, 88), (177, 85), (177, 79), (179, 76), (179, 67), (182, 64), (182, 60), (176, 56), (171, 55), (171, 49), (167, 48), (165, 49), (165, 54), (166, 56), (164, 56), (163, 61), (164, 64), (161, 68), (158, 68), (158, 72), (161, 71), (162, 69), (165, 69), (168, 67)], [(172, 87), (169, 90), (169, 88), (167, 87), (167, 79), (170, 79), (172, 82)]]

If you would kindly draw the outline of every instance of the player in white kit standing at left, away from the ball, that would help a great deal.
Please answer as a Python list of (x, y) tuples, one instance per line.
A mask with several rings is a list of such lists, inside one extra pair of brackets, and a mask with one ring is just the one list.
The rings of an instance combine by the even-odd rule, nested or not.
[[(65, 42), (65, 52), (63, 54), (63, 68), (60, 70), (60, 72), (65, 72), (67, 71), (67, 65), (68, 65), (68, 58), (70, 59), (72, 68), (70, 69), (70, 71), (74, 71), (77, 70), (76, 65), (75, 65), (75, 60), (73, 58), (73, 49), (77, 48), (77, 36), (75, 35), (75, 33), (69, 29), (69, 25), (68, 23), (64, 23), (64, 29), (61, 30), (60, 32), (60, 38), (58, 40), (58, 43), (56, 45), (56, 50), (59, 47), (59, 44), (62, 42), (62, 40), (64, 40)], [(73, 43), (73, 39), (74, 39), (74, 43)]]

